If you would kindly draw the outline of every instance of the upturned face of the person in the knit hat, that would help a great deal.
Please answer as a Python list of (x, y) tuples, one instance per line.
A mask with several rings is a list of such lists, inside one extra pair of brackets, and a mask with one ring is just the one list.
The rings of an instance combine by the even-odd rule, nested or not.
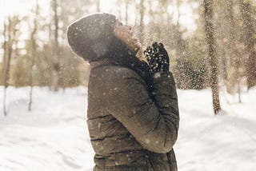
[(117, 21), (114, 25), (114, 36), (121, 39), (135, 54), (141, 48), (138, 38), (134, 38), (131, 26), (123, 25), (122, 22)]

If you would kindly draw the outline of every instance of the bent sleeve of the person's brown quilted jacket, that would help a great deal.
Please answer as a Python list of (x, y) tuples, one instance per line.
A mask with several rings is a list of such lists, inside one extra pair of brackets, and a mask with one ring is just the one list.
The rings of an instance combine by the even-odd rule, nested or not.
[[(110, 72), (111, 73), (111, 72)], [(110, 74), (109, 73), (109, 74)], [(178, 99), (170, 72), (154, 78), (154, 101), (146, 83), (133, 70), (115, 70), (109, 77), (106, 109), (135, 139), (154, 153), (169, 152), (178, 136)]]

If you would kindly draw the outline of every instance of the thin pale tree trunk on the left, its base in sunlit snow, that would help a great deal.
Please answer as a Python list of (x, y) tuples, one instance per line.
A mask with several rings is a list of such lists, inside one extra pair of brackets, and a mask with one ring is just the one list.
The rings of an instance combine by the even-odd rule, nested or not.
[(35, 42), (35, 34), (37, 33), (38, 30), (38, 0), (36, 2), (36, 10), (35, 10), (35, 15), (34, 15), (34, 30), (31, 32), (30, 35), (30, 42), (31, 42), (31, 63), (30, 63), (30, 101), (29, 101), (29, 107), (28, 110), (31, 110), (31, 105), (32, 105), (32, 95), (33, 95), (33, 67), (34, 67), (34, 58), (35, 58), (35, 51), (36, 51), (36, 42)]

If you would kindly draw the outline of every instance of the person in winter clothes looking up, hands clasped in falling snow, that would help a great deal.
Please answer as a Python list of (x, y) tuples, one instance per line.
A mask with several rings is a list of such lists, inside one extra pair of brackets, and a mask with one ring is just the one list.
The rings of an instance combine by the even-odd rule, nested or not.
[(91, 14), (70, 24), (75, 54), (90, 63), (87, 125), (94, 171), (174, 171), (178, 98), (162, 43), (136, 57), (132, 27), (113, 14)]

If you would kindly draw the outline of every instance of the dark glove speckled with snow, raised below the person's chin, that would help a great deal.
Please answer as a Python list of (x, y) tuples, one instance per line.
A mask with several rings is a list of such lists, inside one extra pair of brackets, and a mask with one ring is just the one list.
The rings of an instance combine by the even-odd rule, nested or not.
[(150, 66), (150, 73), (169, 71), (169, 56), (162, 43), (153, 42), (152, 46), (147, 46), (143, 52)]

